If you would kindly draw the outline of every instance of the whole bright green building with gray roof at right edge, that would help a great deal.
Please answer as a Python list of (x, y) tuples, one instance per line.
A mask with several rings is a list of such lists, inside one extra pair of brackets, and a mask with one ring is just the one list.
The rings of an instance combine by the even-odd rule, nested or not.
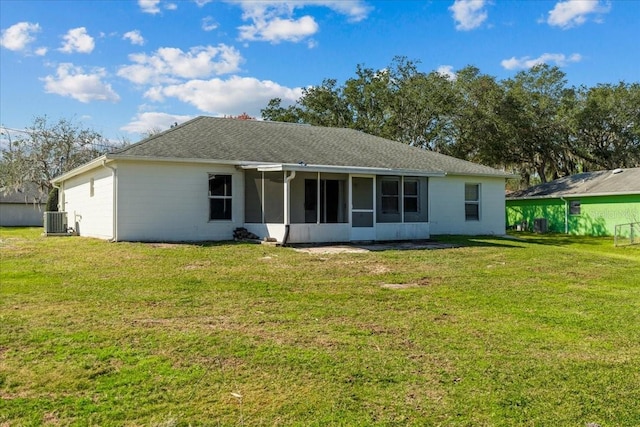
[(508, 226), (546, 219), (548, 231), (613, 235), (617, 224), (640, 222), (640, 168), (584, 172), (507, 196)]

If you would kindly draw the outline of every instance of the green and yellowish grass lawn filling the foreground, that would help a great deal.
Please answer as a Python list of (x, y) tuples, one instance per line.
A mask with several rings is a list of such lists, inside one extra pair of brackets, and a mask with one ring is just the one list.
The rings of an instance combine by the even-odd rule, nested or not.
[(0, 229), (0, 426), (640, 425), (639, 247), (40, 232)]

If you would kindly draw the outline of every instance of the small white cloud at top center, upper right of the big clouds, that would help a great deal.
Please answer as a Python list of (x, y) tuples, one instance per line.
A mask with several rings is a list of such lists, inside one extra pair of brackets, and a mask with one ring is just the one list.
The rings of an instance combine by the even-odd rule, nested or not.
[(318, 32), (318, 24), (311, 16), (300, 19), (255, 20), (253, 25), (239, 27), (241, 40), (260, 40), (271, 43), (299, 42)]

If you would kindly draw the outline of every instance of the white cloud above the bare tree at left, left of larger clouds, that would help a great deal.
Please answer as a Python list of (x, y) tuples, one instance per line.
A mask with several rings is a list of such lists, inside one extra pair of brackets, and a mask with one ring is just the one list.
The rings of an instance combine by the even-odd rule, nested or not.
[(102, 82), (106, 72), (103, 68), (97, 68), (92, 73), (85, 73), (81, 67), (64, 63), (58, 66), (55, 76), (47, 76), (45, 91), (61, 96), (68, 96), (80, 102), (120, 100), (110, 84)]

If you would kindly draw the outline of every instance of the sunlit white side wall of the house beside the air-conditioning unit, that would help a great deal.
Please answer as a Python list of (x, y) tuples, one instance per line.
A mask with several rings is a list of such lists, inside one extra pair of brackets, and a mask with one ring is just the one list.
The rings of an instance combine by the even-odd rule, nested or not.
[[(113, 177), (98, 167), (64, 182), (64, 207), (69, 227), (81, 236), (113, 238)], [(93, 180), (93, 196), (91, 182)]]

